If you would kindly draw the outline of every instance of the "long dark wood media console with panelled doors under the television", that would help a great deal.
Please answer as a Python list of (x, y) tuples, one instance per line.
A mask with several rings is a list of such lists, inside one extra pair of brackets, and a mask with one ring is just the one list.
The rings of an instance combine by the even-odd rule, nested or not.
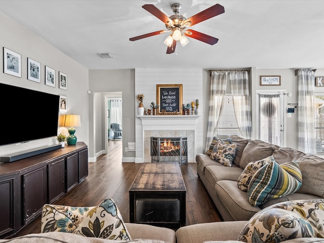
[(0, 163), (0, 238), (15, 234), (88, 176), (88, 147), (62, 149)]

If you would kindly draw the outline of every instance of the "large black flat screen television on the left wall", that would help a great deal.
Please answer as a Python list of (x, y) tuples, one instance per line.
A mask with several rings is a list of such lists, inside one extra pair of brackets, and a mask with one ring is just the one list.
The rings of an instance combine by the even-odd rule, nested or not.
[(0, 84), (0, 146), (57, 136), (59, 95)]

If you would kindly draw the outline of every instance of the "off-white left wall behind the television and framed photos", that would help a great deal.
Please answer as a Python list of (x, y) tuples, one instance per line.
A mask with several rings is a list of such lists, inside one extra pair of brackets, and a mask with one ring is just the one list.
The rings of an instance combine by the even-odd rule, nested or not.
[[(22, 56), (22, 77), (12, 76), (3, 71), (0, 72), (0, 83), (42, 91), (55, 95), (67, 96), (67, 113), (79, 114), (81, 127), (76, 128), (77, 141), (89, 142), (89, 107), (88, 107), (88, 69), (75, 62), (55, 47), (46, 43), (43, 39), (21, 27), (7, 16), (0, 13), (0, 43), (1, 58), (0, 66), (3, 67), (3, 47), (6, 47)], [(27, 79), (27, 57), (41, 63), (41, 84)], [(45, 65), (56, 70), (56, 87), (45, 85)], [(67, 74), (67, 91), (58, 88), (58, 72)], [(15, 94), (7, 94), (15, 95)], [(19, 100), (19, 97), (17, 97)], [(41, 106), (41, 104), (39, 104)], [(46, 107), (46, 106), (45, 106)], [(42, 108), (39, 108), (42, 113)], [(61, 113), (63, 114), (63, 113)], [(28, 119), (30, 117), (22, 117)], [(4, 118), (2, 118), (4, 119)], [(38, 123), (30, 129), (44, 129), (46, 120)], [(8, 129), (2, 127), (3, 130)], [(19, 128), (15, 131), (19, 131)], [(23, 132), (23, 131), (19, 131)], [(68, 135), (66, 128), (59, 128), (59, 132)], [(11, 152), (19, 152), (29, 148), (45, 146), (57, 143), (56, 137), (30, 141), (19, 145), (0, 146), (0, 155)]]

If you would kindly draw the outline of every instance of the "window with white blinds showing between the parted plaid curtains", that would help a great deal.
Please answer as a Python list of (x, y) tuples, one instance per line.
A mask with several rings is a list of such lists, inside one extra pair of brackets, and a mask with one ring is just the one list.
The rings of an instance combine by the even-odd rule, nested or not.
[(223, 113), (219, 120), (216, 136), (218, 138), (228, 138), (231, 135), (241, 136), (241, 133), (239, 132), (235, 119), (232, 95), (226, 94)]

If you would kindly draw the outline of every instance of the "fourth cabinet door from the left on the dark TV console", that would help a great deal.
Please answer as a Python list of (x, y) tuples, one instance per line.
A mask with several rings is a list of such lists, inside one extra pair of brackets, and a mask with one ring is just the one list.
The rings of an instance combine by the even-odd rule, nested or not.
[(78, 183), (78, 154), (75, 153), (65, 160), (66, 191), (71, 190)]

